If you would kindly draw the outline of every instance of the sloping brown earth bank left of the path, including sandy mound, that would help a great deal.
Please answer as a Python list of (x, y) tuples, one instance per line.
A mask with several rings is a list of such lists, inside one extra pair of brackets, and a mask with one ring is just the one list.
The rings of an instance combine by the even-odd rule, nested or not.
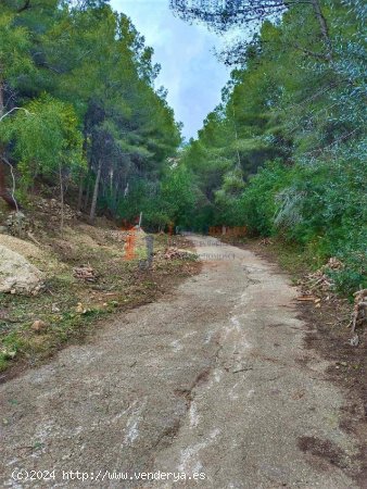
[[(38, 221), (39, 223), (39, 221)], [(0, 234), (0, 244), (25, 256), (43, 274), (37, 296), (0, 294), (0, 383), (37, 366), (65, 346), (80, 343), (106, 317), (156, 300), (200, 269), (191, 258), (166, 258), (173, 246), (191, 246), (182, 237), (154, 237), (151, 267), (145, 234), (137, 233), (136, 255), (125, 260), (126, 233), (74, 223), (64, 233), (38, 225), (38, 244)], [(110, 225), (110, 227), (106, 226)], [(91, 279), (83, 271), (91, 271)], [(41, 322), (45, 327), (35, 329)]]

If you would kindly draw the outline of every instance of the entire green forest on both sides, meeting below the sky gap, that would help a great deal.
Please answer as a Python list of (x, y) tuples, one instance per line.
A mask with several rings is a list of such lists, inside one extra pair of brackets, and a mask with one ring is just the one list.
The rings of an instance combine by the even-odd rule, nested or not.
[(15, 208), (56, 190), (91, 220), (143, 212), (151, 229), (246, 226), (340, 258), (344, 291), (366, 286), (365, 2), (170, 5), (249, 39), (220, 54), (233, 67), (222, 103), (179, 151), (152, 49), (125, 15), (0, 0), (0, 196)]

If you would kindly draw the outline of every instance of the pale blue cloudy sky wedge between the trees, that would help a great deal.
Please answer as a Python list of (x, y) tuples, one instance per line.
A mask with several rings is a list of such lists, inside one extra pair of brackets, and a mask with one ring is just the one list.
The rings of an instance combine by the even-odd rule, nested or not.
[(169, 0), (111, 0), (128, 15), (145, 42), (154, 49), (154, 63), (162, 66), (156, 88), (168, 90), (167, 101), (184, 136), (197, 137), (203, 120), (220, 102), (229, 71), (213, 52), (223, 42), (204, 25), (189, 25), (174, 16)]

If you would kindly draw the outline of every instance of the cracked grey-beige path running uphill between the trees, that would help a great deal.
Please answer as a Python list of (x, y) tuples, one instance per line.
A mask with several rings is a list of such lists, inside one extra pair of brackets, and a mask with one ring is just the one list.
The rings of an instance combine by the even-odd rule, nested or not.
[[(303, 348), (295, 290), (253, 253), (193, 239), (203, 271), (172, 297), (1, 387), (5, 485), (357, 487), (345, 468), (356, 442), (339, 428), (345, 399)], [(12, 481), (22, 468), (55, 469), (55, 480)], [(63, 480), (62, 471), (90, 478)], [(102, 481), (99, 471), (206, 478)]]

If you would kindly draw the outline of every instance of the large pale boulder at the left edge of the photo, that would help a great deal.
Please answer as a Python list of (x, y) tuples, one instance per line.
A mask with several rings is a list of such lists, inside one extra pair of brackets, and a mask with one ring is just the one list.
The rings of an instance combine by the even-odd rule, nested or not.
[(24, 256), (0, 244), (0, 292), (37, 293), (43, 275)]

